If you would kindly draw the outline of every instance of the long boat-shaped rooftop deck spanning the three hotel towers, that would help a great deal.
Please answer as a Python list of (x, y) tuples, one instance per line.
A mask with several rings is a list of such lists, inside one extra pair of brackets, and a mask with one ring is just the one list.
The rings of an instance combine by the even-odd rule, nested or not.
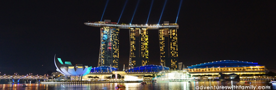
[(94, 27), (102, 27), (102, 26), (110, 26), (110, 27), (119, 27), (120, 29), (130, 29), (130, 28), (147, 28), (147, 29), (159, 29), (159, 28), (176, 28), (178, 29), (178, 24), (176, 23), (166, 23), (166, 24), (118, 24), (118, 23), (107, 23), (107, 22), (85, 22), (85, 25), (94, 26)]

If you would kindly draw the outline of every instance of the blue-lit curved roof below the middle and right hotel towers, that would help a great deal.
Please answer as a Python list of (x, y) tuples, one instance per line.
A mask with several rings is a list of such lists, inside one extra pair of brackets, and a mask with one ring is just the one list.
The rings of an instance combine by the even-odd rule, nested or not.
[(146, 65), (128, 69), (127, 72), (159, 72), (162, 70), (170, 70), (170, 68), (157, 65)]

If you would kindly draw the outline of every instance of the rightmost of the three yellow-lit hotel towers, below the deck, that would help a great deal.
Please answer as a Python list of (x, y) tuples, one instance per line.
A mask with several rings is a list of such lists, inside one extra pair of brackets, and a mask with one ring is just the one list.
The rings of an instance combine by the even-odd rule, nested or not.
[(159, 29), (160, 65), (178, 70), (177, 28)]

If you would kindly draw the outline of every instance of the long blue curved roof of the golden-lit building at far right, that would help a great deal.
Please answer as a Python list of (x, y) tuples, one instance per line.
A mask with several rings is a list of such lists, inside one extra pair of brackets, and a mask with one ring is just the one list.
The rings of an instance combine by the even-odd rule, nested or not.
[(243, 61), (233, 61), (233, 60), (224, 60), (224, 61), (216, 61), (216, 62), (208, 62), (204, 64), (197, 64), (189, 66), (188, 68), (206, 68), (206, 67), (248, 67), (248, 66), (263, 66), (258, 63), (252, 62), (243, 62)]

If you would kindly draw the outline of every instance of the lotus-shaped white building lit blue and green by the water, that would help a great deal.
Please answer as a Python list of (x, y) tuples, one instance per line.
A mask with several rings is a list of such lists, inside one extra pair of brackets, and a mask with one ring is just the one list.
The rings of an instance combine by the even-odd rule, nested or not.
[(85, 76), (87, 75), (92, 67), (83, 66), (82, 64), (77, 64), (73, 66), (71, 62), (63, 63), (61, 58), (54, 58), (54, 62), (57, 68), (57, 71), (67, 76)]

